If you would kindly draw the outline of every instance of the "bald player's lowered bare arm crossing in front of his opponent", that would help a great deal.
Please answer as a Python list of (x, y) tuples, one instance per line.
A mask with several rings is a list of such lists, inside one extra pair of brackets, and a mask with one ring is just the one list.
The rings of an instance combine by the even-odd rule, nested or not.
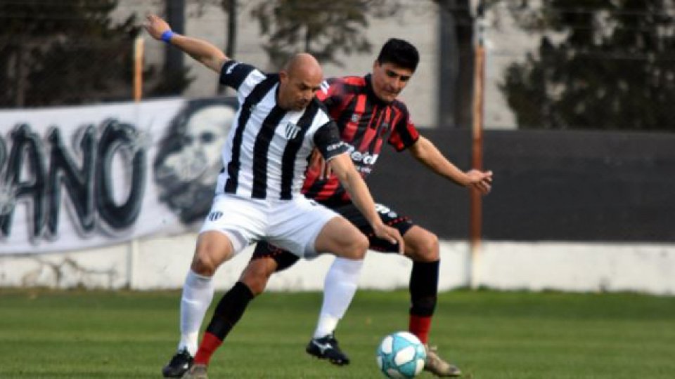
[(364, 178), (361, 178), (359, 171), (356, 171), (349, 154), (340, 154), (337, 157), (333, 157), (333, 159), (328, 161), (328, 166), (330, 166), (333, 173), (338, 176), (342, 186), (347, 189), (356, 208), (359, 208), (359, 211), (363, 213), (366, 220), (370, 222), (371, 227), (373, 227), (373, 230), (375, 231), (375, 235), (381, 239), (390, 241), (392, 244), (398, 244), (399, 253), (403, 254), (405, 251), (403, 237), (401, 237), (398, 230), (393, 227), (388, 227), (380, 219), (378, 212), (375, 211), (375, 201), (373, 201), (373, 196), (368, 190)]

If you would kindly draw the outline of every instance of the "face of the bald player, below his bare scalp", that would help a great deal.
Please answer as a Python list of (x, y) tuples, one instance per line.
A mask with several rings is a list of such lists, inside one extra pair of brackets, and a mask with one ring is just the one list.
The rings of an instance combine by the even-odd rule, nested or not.
[(283, 109), (300, 111), (309, 105), (316, 91), (321, 88), (321, 75), (290, 75), (286, 72), (279, 74), (279, 106)]

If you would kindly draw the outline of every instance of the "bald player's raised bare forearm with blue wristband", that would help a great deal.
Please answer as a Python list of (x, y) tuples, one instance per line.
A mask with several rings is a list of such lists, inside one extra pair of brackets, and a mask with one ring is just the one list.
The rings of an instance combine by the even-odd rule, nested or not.
[(143, 27), (154, 39), (167, 41), (217, 73), (229, 60), (223, 51), (207, 41), (172, 32), (158, 15), (148, 15)]

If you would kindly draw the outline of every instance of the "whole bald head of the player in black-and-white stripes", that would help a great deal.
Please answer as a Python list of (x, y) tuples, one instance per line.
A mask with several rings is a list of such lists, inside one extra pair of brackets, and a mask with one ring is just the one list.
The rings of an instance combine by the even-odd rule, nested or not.
[(293, 55), (279, 72), (278, 105), (299, 111), (307, 107), (323, 80), (323, 69), (311, 54)]

